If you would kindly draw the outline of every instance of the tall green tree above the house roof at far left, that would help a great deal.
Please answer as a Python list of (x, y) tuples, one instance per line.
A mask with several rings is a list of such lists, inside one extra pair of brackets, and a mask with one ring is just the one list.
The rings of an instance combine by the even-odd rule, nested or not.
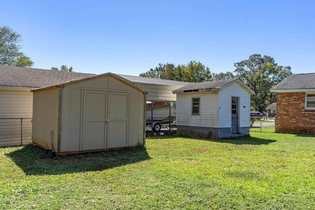
[(0, 27), (0, 64), (31, 67), (34, 62), (20, 52), (21, 35), (7, 26)]

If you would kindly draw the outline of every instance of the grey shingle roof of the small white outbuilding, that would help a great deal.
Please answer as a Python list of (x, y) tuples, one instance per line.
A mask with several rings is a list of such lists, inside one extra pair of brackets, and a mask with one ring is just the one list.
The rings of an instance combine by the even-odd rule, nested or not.
[[(177, 92), (188, 92), (188, 91), (211, 91), (211, 90), (221, 90), (223, 86), (226, 86), (230, 83), (240, 82), (246, 88), (248, 88), (244, 83), (242, 83), (239, 79), (231, 79), (231, 80), (219, 80), (212, 82), (202, 82), (202, 83), (191, 83), (182, 88), (176, 89), (173, 93)], [(249, 89), (249, 88), (248, 88)], [(249, 89), (250, 90), (250, 89)], [(251, 91), (251, 90), (250, 90)]]

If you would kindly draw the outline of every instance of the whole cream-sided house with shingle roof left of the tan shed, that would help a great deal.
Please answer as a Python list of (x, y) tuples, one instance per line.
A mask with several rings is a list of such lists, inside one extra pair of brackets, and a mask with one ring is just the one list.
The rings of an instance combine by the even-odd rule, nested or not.
[(93, 75), (0, 65), (0, 146), (31, 143), (31, 89)]

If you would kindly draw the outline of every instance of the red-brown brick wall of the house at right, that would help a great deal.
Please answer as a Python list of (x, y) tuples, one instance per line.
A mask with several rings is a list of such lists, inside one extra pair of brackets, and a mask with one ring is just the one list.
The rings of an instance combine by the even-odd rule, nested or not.
[(315, 110), (305, 109), (304, 92), (277, 93), (276, 132), (315, 135)]

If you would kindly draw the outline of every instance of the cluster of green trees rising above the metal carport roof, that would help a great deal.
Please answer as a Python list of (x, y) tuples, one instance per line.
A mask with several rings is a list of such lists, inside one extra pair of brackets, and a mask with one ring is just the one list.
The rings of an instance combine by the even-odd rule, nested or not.
[(205, 82), (211, 80), (209, 67), (194, 60), (187, 63), (187, 65), (180, 64), (177, 66), (173, 63), (159, 63), (156, 68), (151, 68), (139, 76), (183, 82)]

